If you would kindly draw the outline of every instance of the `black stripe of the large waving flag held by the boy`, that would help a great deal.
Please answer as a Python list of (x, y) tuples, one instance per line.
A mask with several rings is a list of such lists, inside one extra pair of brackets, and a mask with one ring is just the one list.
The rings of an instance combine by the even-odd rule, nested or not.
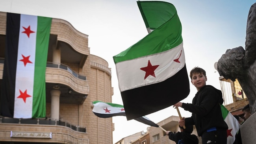
[(171, 78), (160, 83), (121, 92), (127, 120), (165, 109), (188, 96), (186, 65)]

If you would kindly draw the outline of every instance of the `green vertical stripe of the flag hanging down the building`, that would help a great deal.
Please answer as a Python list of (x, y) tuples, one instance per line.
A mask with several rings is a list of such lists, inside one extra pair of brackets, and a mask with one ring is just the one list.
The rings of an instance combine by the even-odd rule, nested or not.
[(37, 17), (32, 118), (46, 116), (45, 72), (52, 18)]

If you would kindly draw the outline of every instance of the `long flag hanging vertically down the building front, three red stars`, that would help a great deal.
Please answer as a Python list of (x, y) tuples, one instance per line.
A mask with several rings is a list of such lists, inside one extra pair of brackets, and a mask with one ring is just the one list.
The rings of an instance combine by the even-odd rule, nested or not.
[(1, 115), (46, 115), (45, 71), (52, 18), (7, 13)]

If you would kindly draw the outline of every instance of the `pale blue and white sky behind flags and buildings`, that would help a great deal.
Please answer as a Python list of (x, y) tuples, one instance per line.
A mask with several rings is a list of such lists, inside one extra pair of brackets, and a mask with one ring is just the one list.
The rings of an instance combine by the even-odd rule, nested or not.
[[(0, 0), (0, 11), (39, 15), (67, 20), (76, 30), (89, 35), (90, 52), (108, 61), (112, 72), (112, 103), (122, 104), (113, 56), (147, 35), (137, 0)], [(166, 0), (172, 3), (182, 23), (182, 37), (188, 73), (199, 66), (206, 70), (207, 84), (220, 88), (214, 63), (229, 48), (245, 47), (247, 16), (254, 0)], [(191, 103), (191, 92), (182, 102)], [(182, 116), (191, 113), (180, 108)], [(155, 123), (178, 116), (168, 107), (147, 115)], [(124, 116), (113, 117), (113, 143), (124, 137), (147, 131), (148, 125)]]

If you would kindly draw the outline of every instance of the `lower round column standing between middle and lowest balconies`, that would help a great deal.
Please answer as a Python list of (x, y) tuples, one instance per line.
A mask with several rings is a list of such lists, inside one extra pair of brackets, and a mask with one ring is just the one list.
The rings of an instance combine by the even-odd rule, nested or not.
[(60, 90), (51, 90), (51, 120), (59, 120), (59, 96)]

